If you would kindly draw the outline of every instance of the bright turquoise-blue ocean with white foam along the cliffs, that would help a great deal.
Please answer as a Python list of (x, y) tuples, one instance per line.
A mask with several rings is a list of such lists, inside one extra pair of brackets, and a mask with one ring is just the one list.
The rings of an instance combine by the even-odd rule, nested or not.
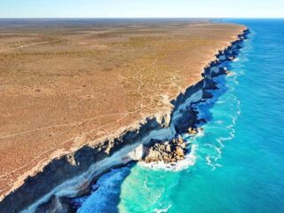
[(284, 212), (284, 20), (224, 21), (251, 34), (199, 106), (208, 123), (185, 136), (186, 163), (112, 170), (78, 212)]

